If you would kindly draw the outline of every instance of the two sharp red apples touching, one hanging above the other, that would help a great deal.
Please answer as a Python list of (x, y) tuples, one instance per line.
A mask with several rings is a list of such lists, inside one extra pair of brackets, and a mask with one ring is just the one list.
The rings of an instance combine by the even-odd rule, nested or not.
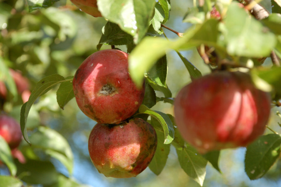
[(145, 84), (138, 89), (131, 80), (128, 54), (107, 49), (90, 55), (75, 73), (73, 91), (81, 111), (97, 122), (88, 142), (97, 170), (116, 178), (141, 173), (154, 156), (157, 136), (143, 119), (130, 119), (142, 103)]

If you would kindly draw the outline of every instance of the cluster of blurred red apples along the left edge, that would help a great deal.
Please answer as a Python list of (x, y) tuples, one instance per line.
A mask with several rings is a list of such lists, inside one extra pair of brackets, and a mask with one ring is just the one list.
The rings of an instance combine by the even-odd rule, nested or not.
[[(9, 69), (9, 73), (15, 81), (17, 92), (21, 96), (23, 103), (28, 101), (30, 96), (28, 79), (23, 77), (20, 71)], [(8, 143), (12, 156), (17, 158), (21, 163), (25, 162), (25, 158), (21, 151), (17, 149), (22, 141), (22, 132), (19, 123), (13, 118), (4, 114), (2, 107), (8, 98), (8, 91), (4, 82), (0, 81), (0, 136)]]

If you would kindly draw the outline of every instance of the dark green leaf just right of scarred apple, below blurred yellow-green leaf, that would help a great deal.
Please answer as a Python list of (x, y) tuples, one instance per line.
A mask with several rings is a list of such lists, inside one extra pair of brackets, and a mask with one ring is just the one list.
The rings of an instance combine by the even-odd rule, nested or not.
[(153, 89), (163, 92), (165, 97), (172, 97), (172, 93), (166, 85), (167, 73), (168, 64), (165, 55), (151, 67), (145, 77)]

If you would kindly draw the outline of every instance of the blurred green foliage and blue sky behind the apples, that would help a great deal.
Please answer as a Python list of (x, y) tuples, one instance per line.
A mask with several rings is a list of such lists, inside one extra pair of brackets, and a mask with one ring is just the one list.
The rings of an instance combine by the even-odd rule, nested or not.
[[(264, 0), (262, 4), (271, 10), (269, 0)], [(165, 25), (178, 32), (184, 32), (190, 24), (183, 23), (182, 17), (188, 7), (192, 6), (192, 1), (171, 0), (171, 5), (170, 19)], [(40, 79), (47, 75), (57, 73), (64, 77), (73, 76), (83, 60), (97, 50), (96, 45), (99, 43), (102, 27), (106, 22), (102, 17), (91, 17), (79, 11), (69, 0), (55, 2), (53, 7), (31, 13), (28, 13), (26, 1), (0, 0), (0, 61), (5, 67), (20, 70), (29, 79), (31, 90)], [(169, 38), (177, 37), (168, 30), (164, 31)], [(116, 47), (126, 51), (126, 46)], [(101, 47), (101, 49), (107, 48), (110, 46)], [(210, 72), (196, 49), (183, 52), (183, 54), (202, 74)], [(172, 96), (175, 97), (176, 93), (191, 80), (188, 71), (175, 52), (168, 53), (167, 59), (169, 62), (167, 85)], [(272, 64), (270, 60), (265, 60), (264, 65), (271, 66)], [(19, 179), (34, 184), (33, 186), (48, 187), (82, 186), (80, 184), (94, 187), (199, 186), (180, 168), (173, 146), (171, 146), (167, 164), (158, 176), (149, 168), (136, 178), (130, 179), (106, 178), (99, 174), (88, 154), (88, 136), (96, 122), (79, 110), (75, 99), (72, 99), (63, 110), (59, 108), (56, 90), (49, 91), (32, 106), (27, 128), (31, 130), (30, 132), (37, 133), (37, 136), (32, 134), (30, 139), (33, 138), (32, 142), (38, 143), (30, 147), (22, 141), (19, 149), (26, 157), (27, 163), (16, 162)], [(161, 92), (156, 92), (156, 95), (163, 96)], [(21, 105), (22, 100), (13, 99), (10, 93), (8, 102), (4, 105), (4, 111), (19, 120)], [(172, 105), (169, 103), (158, 102), (152, 109), (173, 114)], [(272, 109), (269, 126), (281, 133), (277, 110), (281, 112), (280, 107)], [(35, 128), (39, 125), (43, 126), (41, 130)], [(50, 145), (44, 144), (40, 139), (45, 133), (62, 135), (59, 140), (51, 137), (48, 144), (59, 144), (62, 147), (68, 147), (69, 144), (69, 147), (61, 149), (60, 146), (56, 146), (50, 150)], [(264, 178), (250, 181), (244, 172), (244, 154), (245, 148), (221, 151), (219, 165), (223, 175), (208, 164), (203, 186), (281, 186), (280, 161)], [(1, 165), (0, 175), (8, 174), (6, 166)], [(1, 181), (5, 181), (2, 176), (0, 176), (0, 186)]]

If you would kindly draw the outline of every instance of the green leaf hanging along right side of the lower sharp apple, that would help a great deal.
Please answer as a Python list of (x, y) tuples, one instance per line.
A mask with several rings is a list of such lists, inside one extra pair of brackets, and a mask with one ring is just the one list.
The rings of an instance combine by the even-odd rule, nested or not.
[(155, 175), (159, 175), (166, 165), (170, 153), (170, 144), (162, 143), (164, 142), (165, 137), (163, 129), (160, 123), (153, 117), (151, 118), (151, 125), (155, 128), (157, 134), (157, 148), (153, 159), (149, 164), (149, 168)]

